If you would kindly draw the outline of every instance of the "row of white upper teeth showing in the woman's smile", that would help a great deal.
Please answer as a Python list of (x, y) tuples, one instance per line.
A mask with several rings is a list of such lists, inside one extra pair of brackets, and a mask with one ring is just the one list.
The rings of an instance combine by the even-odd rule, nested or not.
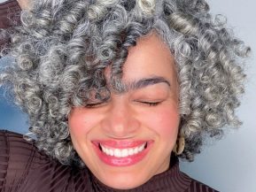
[(142, 145), (136, 147), (136, 148), (128, 148), (128, 149), (110, 149), (105, 147), (104, 145), (100, 144), (101, 149), (103, 152), (108, 156), (114, 156), (114, 157), (128, 157), (135, 155), (141, 151), (144, 150), (144, 147), (146, 145), (146, 142), (144, 142)]

